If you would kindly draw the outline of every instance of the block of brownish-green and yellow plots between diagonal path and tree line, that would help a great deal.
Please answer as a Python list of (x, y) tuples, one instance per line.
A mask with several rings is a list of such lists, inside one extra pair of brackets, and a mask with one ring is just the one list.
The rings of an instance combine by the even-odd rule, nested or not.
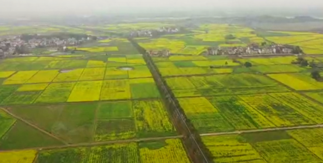
[[(7, 109), (68, 143), (176, 135), (166, 108), (158, 99), (28, 105)], [(4, 121), (8, 122), (6, 128), (15, 122)]]

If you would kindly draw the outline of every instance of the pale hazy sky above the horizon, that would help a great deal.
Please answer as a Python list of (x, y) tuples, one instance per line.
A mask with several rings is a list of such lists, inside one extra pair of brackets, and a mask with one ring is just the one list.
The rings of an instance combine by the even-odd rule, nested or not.
[(323, 7), (323, 0), (0, 0), (0, 12), (124, 12), (156, 9)]

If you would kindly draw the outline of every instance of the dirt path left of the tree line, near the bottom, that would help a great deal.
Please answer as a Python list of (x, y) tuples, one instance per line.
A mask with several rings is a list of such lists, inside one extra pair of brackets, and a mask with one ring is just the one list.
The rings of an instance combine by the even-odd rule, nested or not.
[(182, 135), (176, 135), (176, 136), (148, 137), (148, 138), (124, 139), (124, 140), (109, 140), (109, 141), (100, 141), (100, 142), (91, 142), (91, 143), (67, 144), (67, 145), (61, 145), (61, 146), (36, 147), (36, 148), (25, 148), (25, 149), (15, 149), (15, 150), (0, 150), (0, 152), (21, 151), (21, 150), (51, 150), (51, 149), (62, 149), (62, 148), (69, 148), (69, 147), (90, 147), (90, 146), (97, 146), (97, 145), (109, 145), (109, 144), (115, 144), (115, 143), (130, 143), (130, 142), (141, 142), (141, 141), (176, 139), (176, 138), (182, 138), (182, 137), (183, 137)]

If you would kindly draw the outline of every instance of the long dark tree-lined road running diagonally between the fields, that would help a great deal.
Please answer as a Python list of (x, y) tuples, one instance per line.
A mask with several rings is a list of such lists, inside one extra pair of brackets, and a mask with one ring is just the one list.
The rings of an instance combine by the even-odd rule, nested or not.
[(186, 153), (193, 163), (214, 163), (212, 155), (202, 142), (201, 136), (194, 126), (188, 121), (183, 109), (180, 107), (174, 94), (167, 86), (166, 81), (162, 78), (157, 66), (152, 61), (150, 55), (146, 53), (146, 50), (141, 47), (133, 39), (128, 39), (131, 44), (137, 48), (145, 59), (145, 62), (152, 74), (157, 88), (161, 94), (164, 105), (169, 113), (170, 119), (173, 121), (177, 132), (183, 135), (183, 145), (186, 149)]

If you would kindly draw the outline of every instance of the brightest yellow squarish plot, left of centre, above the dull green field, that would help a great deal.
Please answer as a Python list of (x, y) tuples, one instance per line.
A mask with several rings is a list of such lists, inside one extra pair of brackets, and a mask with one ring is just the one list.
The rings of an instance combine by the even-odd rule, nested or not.
[(67, 101), (97, 101), (100, 99), (101, 86), (102, 81), (77, 82)]

